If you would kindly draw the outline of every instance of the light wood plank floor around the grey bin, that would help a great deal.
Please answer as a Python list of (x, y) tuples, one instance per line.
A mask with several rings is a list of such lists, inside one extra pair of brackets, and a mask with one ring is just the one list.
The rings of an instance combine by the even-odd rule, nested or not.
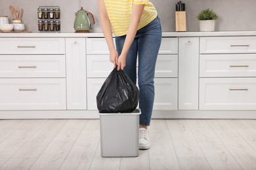
[(102, 158), (99, 120), (0, 120), (0, 169), (256, 169), (256, 120), (152, 120), (150, 139)]

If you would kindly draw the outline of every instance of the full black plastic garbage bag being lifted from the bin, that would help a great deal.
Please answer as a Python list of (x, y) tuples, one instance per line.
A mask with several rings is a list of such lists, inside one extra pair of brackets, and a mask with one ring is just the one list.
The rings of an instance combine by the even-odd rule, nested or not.
[(96, 101), (100, 113), (133, 112), (139, 102), (139, 89), (116, 67), (100, 88)]

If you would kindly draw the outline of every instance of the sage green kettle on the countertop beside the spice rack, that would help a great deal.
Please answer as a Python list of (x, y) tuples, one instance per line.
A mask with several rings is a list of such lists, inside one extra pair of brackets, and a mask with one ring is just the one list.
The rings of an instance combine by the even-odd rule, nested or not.
[(91, 12), (83, 10), (83, 7), (75, 12), (75, 32), (89, 32), (93, 24), (95, 24), (95, 18)]

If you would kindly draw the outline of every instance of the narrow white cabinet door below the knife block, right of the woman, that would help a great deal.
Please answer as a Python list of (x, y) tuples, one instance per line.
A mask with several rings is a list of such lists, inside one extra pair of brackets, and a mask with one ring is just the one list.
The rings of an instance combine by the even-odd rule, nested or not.
[(199, 38), (179, 38), (179, 110), (198, 110)]

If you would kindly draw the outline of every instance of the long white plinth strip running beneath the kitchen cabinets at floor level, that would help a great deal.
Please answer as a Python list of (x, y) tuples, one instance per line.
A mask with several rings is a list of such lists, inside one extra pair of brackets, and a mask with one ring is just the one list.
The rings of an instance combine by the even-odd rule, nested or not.
[[(97, 119), (98, 110), (1, 110), (0, 119)], [(154, 110), (156, 119), (256, 119), (256, 110)]]

